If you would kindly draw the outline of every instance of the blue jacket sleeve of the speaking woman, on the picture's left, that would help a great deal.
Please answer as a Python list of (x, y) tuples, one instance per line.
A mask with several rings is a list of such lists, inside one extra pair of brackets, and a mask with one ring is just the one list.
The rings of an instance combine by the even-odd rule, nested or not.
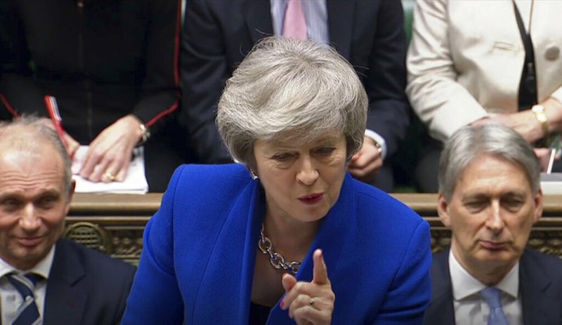
[(170, 180), (162, 205), (145, 227), (143, 252), (122, 325), (182, 324), (183, 298), (174, 270), (173, 215), (182, 168)]

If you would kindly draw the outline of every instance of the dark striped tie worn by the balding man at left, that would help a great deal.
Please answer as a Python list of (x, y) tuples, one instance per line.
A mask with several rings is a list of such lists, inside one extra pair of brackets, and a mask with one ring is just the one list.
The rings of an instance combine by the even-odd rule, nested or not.
[(20, 293), (23, 299), (22, 305), (18, 307), (18, 314), (13, 321), (13, 325), (39, 325), (41, 324), (41, 317), (39, 316), (39, 310), (37, 310), (37, 305), (35, 304), (35, 298), (33, 291), (35, 289), (35, 284), (40, 279), (43, 279), (39, 274), (8, 274), (8, 281), (15, 287)]

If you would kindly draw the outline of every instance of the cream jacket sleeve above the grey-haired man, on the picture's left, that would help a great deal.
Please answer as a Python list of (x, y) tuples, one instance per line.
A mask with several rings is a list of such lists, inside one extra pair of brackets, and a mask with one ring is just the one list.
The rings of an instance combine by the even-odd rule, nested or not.
[(406, 92), (414, 112), (433, 138), (441, 141), (488, 115), (456, 81), (449, 37), (447, 1), (416, 1)]

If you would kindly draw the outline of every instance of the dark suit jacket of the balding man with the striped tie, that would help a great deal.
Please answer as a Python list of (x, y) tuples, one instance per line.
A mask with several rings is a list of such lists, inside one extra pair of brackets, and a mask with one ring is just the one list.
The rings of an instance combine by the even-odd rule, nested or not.
[(67, 239), (57, 241), (43, 325), (119, 324), (136, 268)]

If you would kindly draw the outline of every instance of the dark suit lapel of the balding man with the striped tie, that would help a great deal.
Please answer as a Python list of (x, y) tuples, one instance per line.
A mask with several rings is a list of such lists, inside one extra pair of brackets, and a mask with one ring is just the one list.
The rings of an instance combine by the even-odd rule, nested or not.
[(81, 323), (87, 293), (77, 284), (85, 275), (72, 247), (59, 240), (47, 280), (44, 325)]

